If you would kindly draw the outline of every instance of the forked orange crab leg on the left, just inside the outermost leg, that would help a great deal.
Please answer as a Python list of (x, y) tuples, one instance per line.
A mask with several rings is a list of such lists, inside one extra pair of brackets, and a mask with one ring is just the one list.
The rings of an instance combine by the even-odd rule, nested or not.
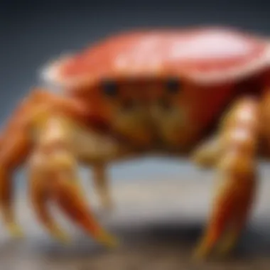
[[(45, 119), (45, 123), (38, 128), (39, 136), (34, 155), (41, 158), (38, 175), (45, 173), (44, 178), (33, 177), (33, 185), (40, 184), (48, 190), (50, 198), (60, 207), (65, 215), (77, 222), (85, 231), (97, 241), (108, 246), (117, 243), (116, 239), (108, 234), (95, 219), (89, 210), (87, 200), (78, 185), (77, 163), (72, 153), (72, 125), (70, 122), (53, 114)], [(32, 164), (33, 170), (38, 166)], [(34, 172), (31, 171), (34, 176)], [(42, 188), (33, 188), (32, 200), (36, 202), (36, 210), (41, 221), (53, 234), (59, 229), (48, 217), (45, 200), (41, 197)], [(39, 191), (39, 192), (38, 192)], [(43, 190), (44, 191), (44, 190)], [(39, 203), (37, 198), (39, 198)], [(35, 200), (36, 199), (36, 200)], [(55, 232), (55, 233), (54, 233)]]

